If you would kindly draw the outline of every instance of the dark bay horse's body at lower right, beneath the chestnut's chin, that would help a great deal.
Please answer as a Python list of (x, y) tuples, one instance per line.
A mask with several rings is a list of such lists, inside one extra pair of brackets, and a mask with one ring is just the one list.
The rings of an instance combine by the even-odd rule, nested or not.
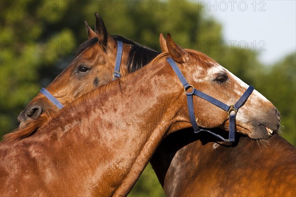
[(279, 134), (258, 142), (239, 135), (230, 145), (185, 130), (168, 135), (150, 160), (166, 196), (296, 196), (296, 148)]

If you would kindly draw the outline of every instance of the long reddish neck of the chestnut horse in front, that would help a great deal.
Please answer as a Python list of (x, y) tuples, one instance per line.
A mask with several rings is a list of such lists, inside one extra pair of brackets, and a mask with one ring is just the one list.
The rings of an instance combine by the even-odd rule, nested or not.
[[(158, 67), (144, 70), (149, 74), (128, 75), (103, 87), (101, 92), (96, 90), (87, 95), (83, 102), (80, 99), (71, 103), (62, 109), (60, 117), (23, 139), (34, 142), (31, 146), (38, 150), (34, 157), (46, 155), (52, 162), (65, 160), (71, 167), (52, 169), (55, 174), (63, 174), (60, 190), (55, 194), (64, 194), (61, 191), (69, 185), (79, 188), (80, 193), (72, 193), (76, 196), (83, 193), (116, 196), (129, 192), (180, 107), (173, 102), (182, 94), (182, 88), (172, 88), (174, 84), (165, 89), (158, 87), (156, 82), (167, 76), (167, 71), (156, 74), (161, 69)], [(164, 94), (172, 97), (166, 98)], [(166, 106), (173, 105), (168, 111)], [(25, 150), (28, 148), (22, 151)]]

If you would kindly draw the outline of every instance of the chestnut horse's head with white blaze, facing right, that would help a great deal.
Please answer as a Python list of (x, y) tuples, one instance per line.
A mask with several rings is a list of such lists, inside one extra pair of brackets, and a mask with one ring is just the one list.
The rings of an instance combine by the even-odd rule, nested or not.
[[(185, 50), (175, 44), (169, 34), (166, 41), (162, 35), (160, 36), (160, 45), (163, 52), (168, 52), (177, 63), (189, 85), (226, 105), (234, 105), (249, 87), (206, 55), (194, 50)], [(176, 79), (176, 83), (181, 84), (180, 80)], [(191, 86), (185, 92), (190, 93), (193, 89)], [(185, 97), (184, 92), (183, 94)], [(193, 106), (199, 127), (229, 129), (229, 115), (225, 110), (197, 96), (193, 96)], [(187, 107), (184, 113), (188, 116)], [(267, 138), (278, 131), (279, 126), (278, 110), (256, 90), (242, 103), (236, 114), (237, 131), (253, 139)]]

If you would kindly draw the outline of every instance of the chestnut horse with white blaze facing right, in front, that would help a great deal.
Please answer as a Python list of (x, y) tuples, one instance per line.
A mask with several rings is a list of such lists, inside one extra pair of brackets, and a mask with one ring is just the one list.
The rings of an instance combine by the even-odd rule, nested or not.
[[(167, 49), (142, 69), (74, 100), (30, 136), (24, 132), (27, 137), (18, 134), (13, 139), (10, 135), (1, 142), (1, 195), (127, 195), (166, 133), (190, 127), (182, 86), (185, 79), (224, 103), (240, 100), (249, 90), (206, 55), (175, 44), (169, 34)], [(157, 82), (163, 80), (166, 85), (160, 87)], [(204, 88), (212, 81), (216, 84)], [(228, 124), (221, 108), (198, 97), (194, 103), (195, 111), (203, 111), (195, 113), (200, 127)], [(256, 116), (265, 116), (264, 127), (274, 130), (279, 125), (276, 111), (254, 91), (237, 112), (236, 128), (248, 136), (265, 138), (268, 131), (258, 131)]]

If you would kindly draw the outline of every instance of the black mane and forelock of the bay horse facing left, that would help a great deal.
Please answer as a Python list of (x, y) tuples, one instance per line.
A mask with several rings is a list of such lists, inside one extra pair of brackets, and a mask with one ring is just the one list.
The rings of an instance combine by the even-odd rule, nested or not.
[[(128, 56), (128, 62), (127, 62), (127, 71), (128, 72), (134, 72), (141, 67), (147, 65), (153, 58), (155, 58), (159, 52), (146, 47), (142, 46), (132, 40), (126, 39), (120, 35), (112, 35), (113, 39), (120, 40), (125, 44), (128, 44), (132, 47), (129, 56)], [(89, 40), (86, 40), (82, 44), (79, 45), (79, 47), (76, 50), (76, 56), (82, 53), (86, 48), (93, 46), (95, 43), (97, 43), (99, 40), (97, 37), (93, 37)], [(115, 63), (114, 63), (115, 64)]]

